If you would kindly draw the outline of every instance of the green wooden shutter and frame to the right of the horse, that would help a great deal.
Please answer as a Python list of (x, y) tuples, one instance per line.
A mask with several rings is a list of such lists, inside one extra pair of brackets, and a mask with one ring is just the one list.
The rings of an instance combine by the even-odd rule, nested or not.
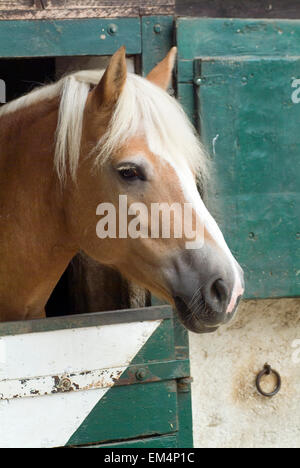
[(248, 298), (300, 294), (299, 34), (299, 22), (178, 22), (179, 96), (214, 161), (210, 209)]

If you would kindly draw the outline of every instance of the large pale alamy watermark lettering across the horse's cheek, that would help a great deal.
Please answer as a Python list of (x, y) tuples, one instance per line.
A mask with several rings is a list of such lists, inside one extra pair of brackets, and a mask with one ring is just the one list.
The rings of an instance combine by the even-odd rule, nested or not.
[(128, 204), (127, 195), (119, 196), (118, 207), (100, 203), (101, 216), (96, 226), (99, 239), (184, 239), (186, 249), (200, 249), (204, 244), (205, 220), (195, 214), (191, 203)]

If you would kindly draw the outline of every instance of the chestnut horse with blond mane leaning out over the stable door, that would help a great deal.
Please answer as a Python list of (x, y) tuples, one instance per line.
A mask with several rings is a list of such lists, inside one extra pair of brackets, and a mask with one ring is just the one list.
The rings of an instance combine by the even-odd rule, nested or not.
[[(44, 318), (79, 251), (168, 301), (195, 333), (234, 316), (243, 272), (199, 192), (208, 158), (167, 92), (175, 60), (173, 47), (143, 78), (127, 71), (121, 47), (106, 70), (65, 76), (1, 107), (0, 321)], [(99, 238), (97, 207), (110, 204), (120, 218), (121, 196), (149, 217), (153, 204), (191, 206), (194, 237), (132, 238), (118, 227)]]

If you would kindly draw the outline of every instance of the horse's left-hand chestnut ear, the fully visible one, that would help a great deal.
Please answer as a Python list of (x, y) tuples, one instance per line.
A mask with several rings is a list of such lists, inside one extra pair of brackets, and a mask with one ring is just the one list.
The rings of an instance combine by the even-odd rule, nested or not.
[(126, 49), (122, 46), (110, 59), (100, 83), (94, 89), (97, 105), (113, 106), (123, 90), (126, 78)]

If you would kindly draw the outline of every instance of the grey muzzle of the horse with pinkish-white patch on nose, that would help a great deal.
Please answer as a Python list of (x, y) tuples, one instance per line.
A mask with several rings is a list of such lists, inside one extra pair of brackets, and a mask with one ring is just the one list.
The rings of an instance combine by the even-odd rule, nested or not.
[(244, 292), (243, 271), (237, 263), (205, 249), (177, 257), (171, 271), (173, 302), (188, 330), (212, 333), (234, 317)]

